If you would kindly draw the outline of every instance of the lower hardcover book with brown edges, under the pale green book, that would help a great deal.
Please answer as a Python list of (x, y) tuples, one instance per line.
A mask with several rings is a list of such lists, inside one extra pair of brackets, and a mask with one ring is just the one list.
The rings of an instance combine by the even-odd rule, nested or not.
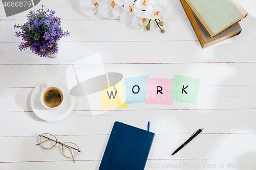
[(188, 19), (190, 20), (191, 25), (194, 28), (194, 31), (202, 45), (202, 47), (205, 47), (207, 45), (219, 42), (221, 40), (239, 35), (242, 31), (242, 28), (240, 27), (239, 23), (236, 23), (235, 25), (231, 26), (227, 30), (223, 31), (222, 33), (218, 34), (214, 38), (210, 38), (208, 33), (205, 31), (203, 26), (200, 24), (198, 19), (195, 17), (195, 15), (191, 12), (190, 8), (187, 6), (184, 0), (180, 0), (181, 4), (187, 14)]

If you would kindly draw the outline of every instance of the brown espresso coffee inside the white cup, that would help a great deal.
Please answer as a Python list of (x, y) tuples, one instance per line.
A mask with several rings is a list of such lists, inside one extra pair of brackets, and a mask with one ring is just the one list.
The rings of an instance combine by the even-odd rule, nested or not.
[(47, 90), (42, 95), (42, 101), (47, 107), (54, 108), (61, 104), (63, 100), (63, 94), (56, 88)]

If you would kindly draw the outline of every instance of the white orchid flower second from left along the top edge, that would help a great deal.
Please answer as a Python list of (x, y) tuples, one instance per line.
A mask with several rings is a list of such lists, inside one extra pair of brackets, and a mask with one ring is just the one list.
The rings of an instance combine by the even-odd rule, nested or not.
[(98, 0), (98, 3), (100, 4), (98, 11), (103, 18), (120, 16), (123, 11), (123, 0)]

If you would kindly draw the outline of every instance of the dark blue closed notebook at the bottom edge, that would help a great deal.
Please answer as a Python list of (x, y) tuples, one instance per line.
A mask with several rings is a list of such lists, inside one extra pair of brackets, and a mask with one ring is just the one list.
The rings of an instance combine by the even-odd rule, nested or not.
[(155, 133), (115, 122), (99, 170), (142, 170)]

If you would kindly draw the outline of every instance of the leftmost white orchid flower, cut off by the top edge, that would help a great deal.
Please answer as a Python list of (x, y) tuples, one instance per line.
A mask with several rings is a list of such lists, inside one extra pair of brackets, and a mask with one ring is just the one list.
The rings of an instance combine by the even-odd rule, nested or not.
[(81, 12), (88, 18), (96, 14), (98, 6), (99, 4), (95, 0), (80, 0)]

